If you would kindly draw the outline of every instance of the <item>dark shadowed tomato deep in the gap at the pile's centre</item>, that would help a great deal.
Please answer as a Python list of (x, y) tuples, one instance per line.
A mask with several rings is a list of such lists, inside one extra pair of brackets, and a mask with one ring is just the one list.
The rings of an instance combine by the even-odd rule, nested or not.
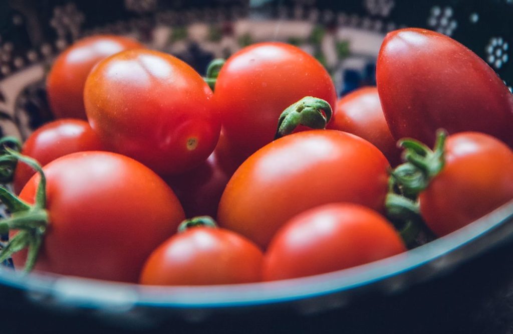
[(230, 177), (214, 151), (198, 167), (164, 179), (180, 199), (187, 217), (216, 217), (219, 200)]

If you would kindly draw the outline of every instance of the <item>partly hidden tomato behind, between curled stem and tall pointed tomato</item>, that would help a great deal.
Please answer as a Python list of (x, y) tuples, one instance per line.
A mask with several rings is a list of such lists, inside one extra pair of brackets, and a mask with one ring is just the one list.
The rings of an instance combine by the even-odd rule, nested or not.
[(349, 132), (370, 141), (383, 152), (391, 165), (401, 162), (401, 151), (386, 123), (376, 87), (362, 87), (341, 98), (327, 128)]

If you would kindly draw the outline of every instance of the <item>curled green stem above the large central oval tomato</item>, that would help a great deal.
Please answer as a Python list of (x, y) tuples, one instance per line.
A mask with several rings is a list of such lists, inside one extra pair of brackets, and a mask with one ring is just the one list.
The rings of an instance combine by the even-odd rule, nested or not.
[(307, 96), (286, 108), (278, 120), (274, 139), (291, 134), (299, 125), (313, 129), (324, 129), (333, 111), (323, 99)]

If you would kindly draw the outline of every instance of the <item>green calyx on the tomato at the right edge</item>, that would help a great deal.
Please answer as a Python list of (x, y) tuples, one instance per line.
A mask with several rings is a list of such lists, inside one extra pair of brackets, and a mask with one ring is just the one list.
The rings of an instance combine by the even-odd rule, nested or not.
[(405, 163), (390, 172), (385, 208), (387, 217), (398, 228), (409, 247), (416, 245), (420, 235), (424, 239), (433, 238), (421, 217), (418, 197), (445, 165), (446, 138), (445, 130), (437, 131), (433, 150), (415, 139), (402, 139), (398, 142), (398, 146), (404, 149)]

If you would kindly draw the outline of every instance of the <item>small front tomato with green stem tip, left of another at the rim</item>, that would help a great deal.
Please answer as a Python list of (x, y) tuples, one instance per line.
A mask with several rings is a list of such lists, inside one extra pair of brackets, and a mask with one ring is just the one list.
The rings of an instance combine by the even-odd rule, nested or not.
[(258, 282), (262, 251), (224, 229), (194, 227), (169, 238), (148, 258), (146, 285), (217, 285)]

